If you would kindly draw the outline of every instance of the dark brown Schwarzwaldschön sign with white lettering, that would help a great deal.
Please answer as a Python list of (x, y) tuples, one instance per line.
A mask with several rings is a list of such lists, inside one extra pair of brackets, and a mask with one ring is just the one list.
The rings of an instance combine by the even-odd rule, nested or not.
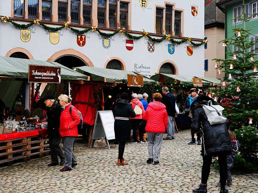
[(29, 64), (29, 82), (60, 83), (61, 68)]

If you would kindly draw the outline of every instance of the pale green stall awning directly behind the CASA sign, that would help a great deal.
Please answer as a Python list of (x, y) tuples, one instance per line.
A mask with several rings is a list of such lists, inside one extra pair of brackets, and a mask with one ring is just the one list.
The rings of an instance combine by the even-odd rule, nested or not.
[[(193, 80), (192, 80), (193, 77), (186, 76), (186, 75), (175, 75), (175, 74), (158, 73), (158, 74), (153, 75), (150, 78), (152, 80), (159, 81), (160, 80), (160, 75), (163, 75), (163, 77), (165, 78), (167, 83), (174, 83), (175, 80), (181, 81), (182, 84), (185, 83), (185, 82), (190, 83), (190, 84), (193, 83)], [(209, 83), (209, 82), (203, 81), (203, 83)]]

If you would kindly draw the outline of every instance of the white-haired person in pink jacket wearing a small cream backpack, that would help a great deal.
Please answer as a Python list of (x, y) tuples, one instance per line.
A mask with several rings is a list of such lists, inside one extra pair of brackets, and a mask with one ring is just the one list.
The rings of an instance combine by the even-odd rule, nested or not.
[[(137, 141), (137, 127), (138, 129), (140, 128), (139, 125), (140, 123), (142, 122), (142, 119), (143, 119), (143, 115), (144, 115), (144, 108), (143, 108), (143, 105), (142, 105), (142, 102), (137, 98), (137, 94), (136, 93), (133, 93), (132, 94), (132, 100), (131, 100), (131, 104), (132, 104), (132, 107), (133, 107), (133, 110), (134, 112), (136, 111), (135, 110), (135, 106), (138, 105), (141, 110), (142, 110), (142, 113), (141, 114), (137, 114), (136, 113), (136, 117), (135, 118), (131, 118), (131, 125), (133, 127), (133, 143), (134, 144), (137, 144), (138, 141)], [(141, 129), (139, 129), (139, 137), (140, 137), (140, 143), (144, 143), (143, 142), (143, 131)]]

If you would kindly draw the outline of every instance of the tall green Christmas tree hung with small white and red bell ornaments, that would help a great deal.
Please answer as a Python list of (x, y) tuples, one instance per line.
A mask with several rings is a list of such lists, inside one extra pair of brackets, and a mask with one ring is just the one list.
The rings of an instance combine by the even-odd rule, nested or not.
[[(240, 142), (240, 154), (234, 158), (235, 167), (254, 171), (258, 170), (258, 60), (254, 60), (255, 50), (258, 50), (258, 39), (251, 33), (252, 29), (246, 29), (246, 21), (251, 17), (253, 15), (246, 15), (243, 11), (243, 14), (236, 18), (238, 21), (242, 20), (243, 27), (233, 29), (234, 34), (231, 38), (220, 41), (222, 46), (226, 47), (230, 58), (213, 60), (216, 61), (217, 72), (225, 72), (223, 81), (226, 88), (213, 91), (229, 101), (224, 106), (223, 113), (230, 121), (230, 130), (235, 131)], [(249, 41), (249, 38), (253, 41)], [(232, 50), (232, 47), (236, 49)]]

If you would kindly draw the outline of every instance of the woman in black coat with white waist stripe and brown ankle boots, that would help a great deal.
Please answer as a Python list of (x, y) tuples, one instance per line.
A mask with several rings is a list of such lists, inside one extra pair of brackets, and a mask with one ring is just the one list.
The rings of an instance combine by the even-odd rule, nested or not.
[(119, 142), (118, 147), (118, 160), (117, 165), (127, 165), (124, 162), (124, 150), (126, 141), (131, 137), (131, 122), (130, 117), (135, 118), (136, 114), (132, 108), (132, 104), (128, 103), (128, 95), (126, 93), (121, 94), (121, 98), (116, 100), (116, 106), (114, 109), (114, 130), (116, 141)]

